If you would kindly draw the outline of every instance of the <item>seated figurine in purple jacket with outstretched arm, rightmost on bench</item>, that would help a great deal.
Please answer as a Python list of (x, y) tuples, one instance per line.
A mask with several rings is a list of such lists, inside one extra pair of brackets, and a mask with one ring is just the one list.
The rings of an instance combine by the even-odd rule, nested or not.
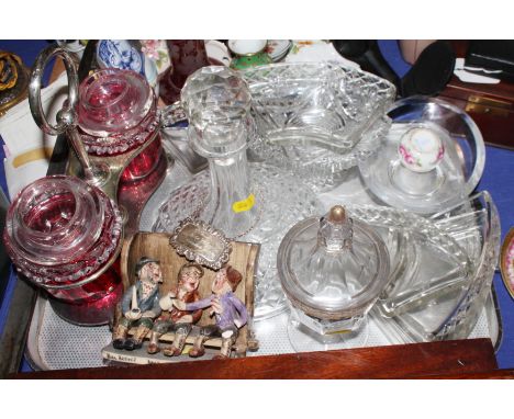
[(205, 353), (204, 342), (213, 337), (222, 338), (220, 354), (214, 358), (231, 356), (232, 346), (237, 338), (238, 329), (246, 325), (248, 319), (245, 305), (234, 294), (242, 279), (239, 271), (227, 265), (214, 276), (211, 288), (213, 294), (208, 298), (189, 304), (174, 299), (174, 305), (178, 309), (193, 312), (211, 306), (211, 315), (215, 315), (215, 325), (201, 328), (200, 336), (194, 340), (193, 348), (189, 351), (191, 358), (202, 356)]

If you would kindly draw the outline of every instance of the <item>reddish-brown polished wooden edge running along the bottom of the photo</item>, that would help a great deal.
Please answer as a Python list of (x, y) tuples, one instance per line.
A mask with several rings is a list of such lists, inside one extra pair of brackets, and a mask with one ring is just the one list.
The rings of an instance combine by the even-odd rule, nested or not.
[[(498, 371), (490, 339), (12, 374), (11, 378), (413, 378)], [(510, 376), (509, 372), (504, 373)]]

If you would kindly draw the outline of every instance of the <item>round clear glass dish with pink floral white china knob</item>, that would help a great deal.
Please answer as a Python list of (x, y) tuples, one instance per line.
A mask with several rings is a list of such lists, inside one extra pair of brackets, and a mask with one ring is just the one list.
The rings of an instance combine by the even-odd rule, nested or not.
[(388, 205), (417, 214), (445, 211), (465, 200), (483, 172), (485, 148), (463, 111), (437, 99), (396, 102), (393, 124), (359, 163), (366, 185)]

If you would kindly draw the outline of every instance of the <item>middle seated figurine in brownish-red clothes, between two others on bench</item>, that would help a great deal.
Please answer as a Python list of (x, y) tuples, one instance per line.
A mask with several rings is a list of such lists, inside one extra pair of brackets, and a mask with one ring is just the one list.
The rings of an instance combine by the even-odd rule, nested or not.
[(187, 263), (178, 273), (178, 287), (160, 298), (160, 308), (164, 313), (155, 320), (152, 329), (150, 342), (147, 348), (149, 354), (159, 352), (159, 338), (169, 331), (175, 332), (172, 346), (165, 348), (163, 353), (167, 356), (178, 356), (182, 353), (186, 339), (191, 331), (191, 325), (200, 320), (202, 310), (185, 312), (172, 305), (172, 298), (183, 303), (194, 303), (200, 299), (198, 285), (203, 276), (203, 269), (197, 263)]

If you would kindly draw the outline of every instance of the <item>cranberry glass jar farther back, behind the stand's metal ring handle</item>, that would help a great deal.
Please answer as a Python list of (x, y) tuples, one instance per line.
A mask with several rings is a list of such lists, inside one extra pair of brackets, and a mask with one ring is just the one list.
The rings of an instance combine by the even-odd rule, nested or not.
[(121, 183), (149, 175), (165, 158), (159, 117), (157, 98), (139, 73), (103, 69), (80, 84), (78, 125), (88, 154), (119, 156), (143, 148), (122, 172)]

